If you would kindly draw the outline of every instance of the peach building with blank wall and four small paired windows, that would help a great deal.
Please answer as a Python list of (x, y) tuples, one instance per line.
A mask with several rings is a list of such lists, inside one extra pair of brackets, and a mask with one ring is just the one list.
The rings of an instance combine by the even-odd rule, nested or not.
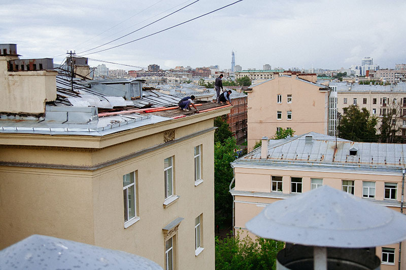
[(263, 136), (279, 129), (295, 134), (310, 131), (327, 134), (329, 88), (316, 83), (316, 74), (274, 74), (252, 85), (248, 94), (248, 149)]

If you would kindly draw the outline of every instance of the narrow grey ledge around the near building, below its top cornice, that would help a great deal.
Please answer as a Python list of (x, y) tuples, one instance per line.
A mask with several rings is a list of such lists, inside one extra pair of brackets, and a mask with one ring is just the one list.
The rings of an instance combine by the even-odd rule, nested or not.
[[(167, 147), (173, 144), (176, 144), (178, 142), (181, 141), (185, 141), (187, 139), (199, 136), (201, 134), (205, 134), (208, 132), (211, 132), (213, 130), (215, 130), (216, 127), (212, 127), (212, 128), (208, 128), (208, 129), (204, 129), (204, 130), (200, 130), (191, 134), (188, 134), (186, 136), (183, 136), (181, 138), (177, 138), (174, 139), (172, 141), (168, 141), (168, 142), (164, 142), (137, 152), (133, 152), (127, 156), (124, 157), (120, 157), (108, 162), (103, 162), (94, 166), (71, 166), (71, 165), (60, 165), (60, 164), (42, 164), (42, 163), (24, 163), (24, 162), (0, 162), (0, 166), (10, 166), (10, 167), (27, 167), (27, 168), (42, 168), (42, 169), (62, 169), (62, 170), (84, 170), (84, 171), (94, 171), (94, 170), (98, 170), (98, 169), (102, 169), (132, 158), (136, 158), (139, 156), (142, 156), (146, 153), (158, 150), (160, 148), (163, 147)], [(89, 149), (90, 150), (90, 149)]]

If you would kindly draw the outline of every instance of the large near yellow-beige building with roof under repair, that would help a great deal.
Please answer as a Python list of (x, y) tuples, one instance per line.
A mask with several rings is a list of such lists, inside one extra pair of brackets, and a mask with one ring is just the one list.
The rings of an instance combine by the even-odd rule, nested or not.
[(142, 85), (106, 95), (0, 49), (0, 249), (40, 234), (213, 269), (213, 120), (229, 107), (171, 110), (179, 99)]

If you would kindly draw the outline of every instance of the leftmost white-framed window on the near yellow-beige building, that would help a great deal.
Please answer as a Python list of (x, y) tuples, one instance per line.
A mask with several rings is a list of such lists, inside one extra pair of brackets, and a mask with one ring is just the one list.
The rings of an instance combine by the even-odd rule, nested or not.
[(124, 228), (137, 222), (137, 179), (136, 172), (123, 175)]

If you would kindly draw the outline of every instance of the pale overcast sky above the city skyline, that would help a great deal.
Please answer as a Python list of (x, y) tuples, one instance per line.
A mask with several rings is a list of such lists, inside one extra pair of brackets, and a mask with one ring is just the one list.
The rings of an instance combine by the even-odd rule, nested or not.
[[(21, 58), (50, 57), (60, 63), (64, 56), (59, 55), (66, 50), (79, 53), (110, 42), (194, 1), (8, 1), (0, 10), (0, 43), (17, 44)], [(98, 50), (136, 40), (235, 1), (199, 0)], [(374, 64), (393, 68), (406, 63), (405, 13), (404, 0), (244, 0), (86, 57), (141, 67), (158, 64), (163, 69), (216, 64), (226, 69), (231, 66), (233, 50), (235, 63), (243, 69), (262, 69), (263, 64), (285, 69), (348, 68), (360, 64), (365, 56), (373, 58)]]

